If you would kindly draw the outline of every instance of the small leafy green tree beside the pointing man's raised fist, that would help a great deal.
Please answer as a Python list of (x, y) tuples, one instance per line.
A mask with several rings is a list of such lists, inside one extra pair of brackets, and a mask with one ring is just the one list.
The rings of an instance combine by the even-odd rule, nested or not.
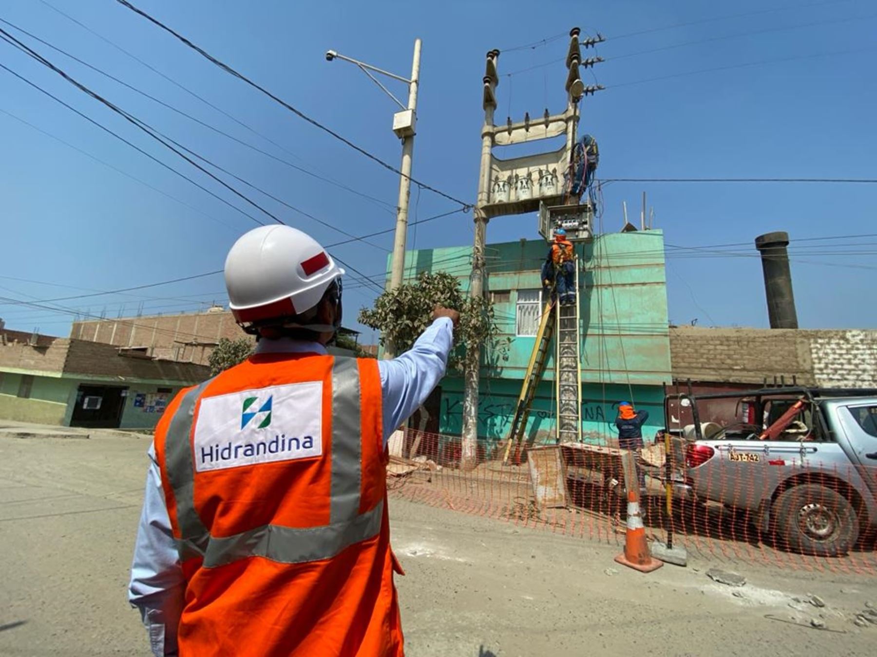
[[(454, 308), (460, 312), (460, 325), (453, 332), (453, 351), (448, 359), (448, 367), (455, 371), (478, 367), (472, 362), (477, 346), (484, 347), (488, 359), (497, 356), (508, 360), (510, 339), (499, 338), (493, 306), (483, 298), (474, 299), (460, 289), (460, 280), (445, 272), (421, 272), (414, 283), (406, 283), (392, 291), (385, 291), (375, 301), (374, 307), (362, 308), (361, 324), (381, 331), (381, 345), (391, 341), (396, 353), (409, 350), (432, 321), (432, 310), (436, 304)], [(421, 416), (426, 413), (423, 406)], [(475, 454), (474, 445), (468, 445), (463, 455)], [(471, 463), (460, 463), (469, 469)]]

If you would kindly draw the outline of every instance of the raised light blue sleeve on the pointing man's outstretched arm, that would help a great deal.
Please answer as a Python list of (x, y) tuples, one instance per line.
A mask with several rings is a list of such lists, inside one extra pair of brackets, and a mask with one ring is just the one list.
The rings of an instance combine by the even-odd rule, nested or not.
[(378, 362), (383, 393), (383, 440), (408, 420), (445, 376), (453, 347), (453, 322), (440, 317), (402, 356)]

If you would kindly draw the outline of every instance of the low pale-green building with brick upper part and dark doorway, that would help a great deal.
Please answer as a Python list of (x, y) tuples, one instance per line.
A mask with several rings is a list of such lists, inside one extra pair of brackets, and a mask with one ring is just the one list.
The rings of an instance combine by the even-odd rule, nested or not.
[(0, 331), (0, 420), (151, 429), (176, 392), (209, 374), (143, 350)]

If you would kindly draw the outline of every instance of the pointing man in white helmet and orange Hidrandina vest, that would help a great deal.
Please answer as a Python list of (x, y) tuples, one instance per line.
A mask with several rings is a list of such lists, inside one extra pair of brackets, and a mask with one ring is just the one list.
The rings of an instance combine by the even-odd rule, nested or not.
[(403, 655), (387, 439), (444, 376), (460, 315), (437, 306), (394, 360), (332, 357), (343, 273), (289, 226), (228, 254), (257, 346), (155, 430), (129, 587), (155, 655)]

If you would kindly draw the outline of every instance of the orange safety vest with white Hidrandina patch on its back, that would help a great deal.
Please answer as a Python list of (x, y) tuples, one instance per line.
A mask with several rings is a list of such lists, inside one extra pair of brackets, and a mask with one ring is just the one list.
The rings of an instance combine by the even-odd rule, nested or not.
[(260, 354), (155, 430), (201, 655), (403, 655), (374, 359)]

